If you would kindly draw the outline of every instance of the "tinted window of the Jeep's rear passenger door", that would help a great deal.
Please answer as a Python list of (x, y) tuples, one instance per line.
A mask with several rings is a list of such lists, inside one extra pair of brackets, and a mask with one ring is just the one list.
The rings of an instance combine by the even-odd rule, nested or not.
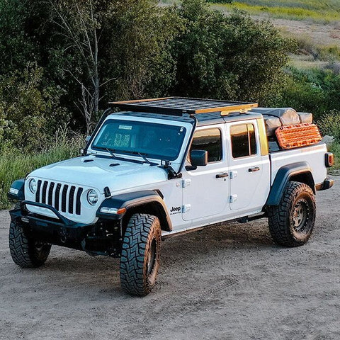
[(232, 157), (249, 157), (256, 154), (256, 139), (254, 125), (240, 124), (230, 127), (230, 137), (232, 139)]

